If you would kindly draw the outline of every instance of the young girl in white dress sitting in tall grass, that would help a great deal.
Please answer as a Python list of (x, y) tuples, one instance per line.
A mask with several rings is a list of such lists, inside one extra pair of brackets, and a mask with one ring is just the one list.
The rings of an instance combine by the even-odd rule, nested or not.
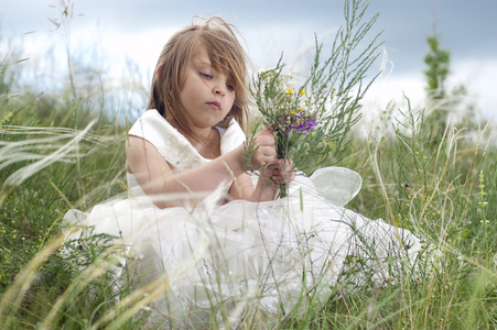
[[(246, 141), (247, 64), (218, 18), (173, 35), (126, 141), (129, 198), (66, 217), (120, 238), (155, 326), (305, 310), (331, 287), (417, 270), (418, 238), (344, 208), (356, 173), (295, 177), (271, 128)], [(278, 184), (290, 184), (288, 197), (275, 199)]]

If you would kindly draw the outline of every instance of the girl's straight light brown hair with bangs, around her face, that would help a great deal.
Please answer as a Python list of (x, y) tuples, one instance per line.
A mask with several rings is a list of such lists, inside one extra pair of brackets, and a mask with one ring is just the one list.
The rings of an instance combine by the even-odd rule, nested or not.
[(234, 29), (223, 19), (214, 16), (203, 24), (192, 22), (190, 26), (176, 32), (159, 56), (147, 109), (158, 110), (165, 119), (174, 120), (181, 130), (193, 134), (193, 124), (184, 110), (180, 94), (187, 69), (204, 47), (213, 69), (226, 75), (236, 91), (233, 108), (219, 124), (223, 125), (230, 118), (235, 118), (245, 130), (249, 106), (249, 59)]

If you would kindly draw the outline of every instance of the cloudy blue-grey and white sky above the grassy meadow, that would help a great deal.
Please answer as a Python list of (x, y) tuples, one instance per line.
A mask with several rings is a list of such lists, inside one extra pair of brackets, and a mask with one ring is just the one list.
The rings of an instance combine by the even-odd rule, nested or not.
[[(51, 7), (58, 3), (0, 0), (1, 57), (22, 44), (23, 57), (32, 62), (48, 50), (61, 52), (63, 58), (61, 35), (48, 20), (60, 18), (58, 9)], [(451, 52), (449, 85), (464, 84), (478, 109), (497, 117), (496, 0), (370, 0), (368, 12), (369, 16), (380, 14), (374, 33), (383, 31), (390, 72), (369, 91), (369, 105), (381, 108), (390, 99), (401, 102), (402, 94), (421, 102), (425, 38), (436, 32), (442, 48)], [(115, 76), (122, 75), (129, 58), (149, 79), (163, 44), (194, 15), (222, 15), (235, 24), (261, 68), (274, 65), (283, 53), (284, 62), (298, 69), (313, 51), (314, 33), (331, 40), (344, 22), (343, 0), (75, 0), (72, 52), (94, 50), (94, 54), (98, 48), (98, 56), (110, 58), (108, 69)]]

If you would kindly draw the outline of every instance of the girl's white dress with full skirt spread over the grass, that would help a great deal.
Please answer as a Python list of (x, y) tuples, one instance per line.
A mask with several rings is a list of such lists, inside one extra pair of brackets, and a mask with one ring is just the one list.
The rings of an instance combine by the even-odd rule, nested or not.
[[(222, 154), (245, 141), (234, 120), (218, 130)], [(145, 111), (129, 134), (152, 143), (175, 172), (209, 162), (155, 110)], [(344, 208), (361, 185), (346, 168), (298, 176), (287, 198), (266, 202), (220, 205), (231, 183), (219, 183), (199, 205), (159, 209), (132, 174), (128, 185), (128, 198), (90, 213), (71, 210), (66, 218), (120, 238), (136, 288), (164, 289), (149, 304), (155, 322), (181, 323), (212, 310), (238, 318), (253, 310), (288, 312), (298, 301), (305, 310), (302, 297), (381, 285), (414, 274), (422, 260), (423, 244), (411, 232)]]

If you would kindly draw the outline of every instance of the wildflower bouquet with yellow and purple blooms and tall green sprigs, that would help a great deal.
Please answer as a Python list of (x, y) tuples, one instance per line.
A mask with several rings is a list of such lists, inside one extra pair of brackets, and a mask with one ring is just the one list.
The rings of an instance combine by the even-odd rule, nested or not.
[[(315, 38), (310, 76), (300, 88), (283, 74), (281, 58), (274, 68), (259, 72), (253, 79), (252, 96), (262, 124), (274, 128), (278, 156), (292, 160), (295, 168), (307, 175), (344, 151), (347, 133), (360, 119), (360, 100), (375, 79), (364, 85), (366, 72), (379, 56), (378, 35), (357, 48), (378, 15), (363, 23), (367, 9), (363, 2), (346, 1), (346, 24), (338, 30), (329, 56), (322, 58), (323, 43)], [(284, 197), (287, 187), (280, 188), (280, 197)]]

